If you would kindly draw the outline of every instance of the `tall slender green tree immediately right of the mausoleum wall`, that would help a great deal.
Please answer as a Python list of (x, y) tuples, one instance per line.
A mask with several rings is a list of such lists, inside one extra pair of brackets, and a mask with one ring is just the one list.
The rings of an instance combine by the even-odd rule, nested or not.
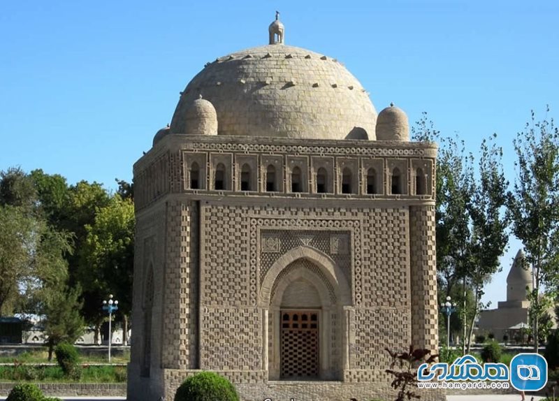
[[(495, 136), (484, 140), (476, 170), (474, 157), (466, 154), (464, 143), (441, 136), (426, 115), (412, 132), (415, 140), (440, 143), (435, 203), (437, 282), (441, 302), (447, 296), (458, 301), (465, 353), (466, 347), (470, 349), (474, 321), (484, 306), (480, 302), (484, 284), (498, 270), (499, 257), (507, 245), (502, 150), (495, 145)], [(459, 296), (454, 291), (457, 285), (461, 286)]]

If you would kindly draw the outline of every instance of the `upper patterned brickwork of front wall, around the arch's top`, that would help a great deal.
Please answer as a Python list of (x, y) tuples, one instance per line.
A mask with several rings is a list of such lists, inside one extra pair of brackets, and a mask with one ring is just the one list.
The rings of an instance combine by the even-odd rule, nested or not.
[[(362, 292), (365, 293), (365, 307), (393, 306), (395, 302), (409, 305), (406, 209), (344, 210), (344, 212), (313, 210), (312, 219), (305, 219), (305, 211), (296, 208), (284, 210), (269, 208), (264, 211), (247, 207), (219, 206), (208, 207), (208, 210), (211, 212), (208, 219), (205, 219), (205, 233), (210, 235), (210, 240), (205, 241), (207, 265), (212, 266), (214, 270), (221, 266), (221, 270), (208, 274), (205, 280), (204, 291), (208, 294), (211, 305), (216, 305), (215, 302), (221, 302), (219, 305), (224, 305), (224, 302), (242, 304), (247, 302), (247, 296), (251, 304), (256, 305), (258, 283), (266, 275), (270, 266), (286, 251), (303, 246), (305, 242), (308, 244), (306, 246), (314, 247), (331, 256), (337, 265), (347, 272), (347, 278), (355, 289), (356, 305), (361, 305)], [(293, 218), (301, 214), (303, 218)], [(252, 217), (249, 240), (245, 236), (247, 217)], [(340, 217), (358, 218), (358, 220), (346, 220)], [(231, 221), (240, 223), (240, 226), (233, 227)], [(222, 222), (228, 224), (220, 225)], [(258, 228), (260, 228), (260, 236)], [(309, 228), (321, 228), (324, 231), (309, 230)], [(351, 231), (347, 231), (347, 228)], [(340, 238), (340, 235), (342, 238), (347, 238), (351, 244), (349, 254), (332, 252), (331, 238), (333, 236)], [(255, 246), (258, 243), (261, 244), (260, 253)], [(249, 244), (253, 246), (249, 247)], [(235, 251), (231, 252), (231, 249)], [(248, 258), (245, 252), (249, 252)], [(246, 260), (249, 261), (249, 272), (245, 265)], [(231, 275), (227, 273), (229, 269)], [(351, 278), (352, 272), (353, 278)], [(226, 282), (224, 277), (228, 277)], [(395, 281), (394, 277), (398, 277), (398, 281)], [(221, 296), (222, 293), (228, 296)]]

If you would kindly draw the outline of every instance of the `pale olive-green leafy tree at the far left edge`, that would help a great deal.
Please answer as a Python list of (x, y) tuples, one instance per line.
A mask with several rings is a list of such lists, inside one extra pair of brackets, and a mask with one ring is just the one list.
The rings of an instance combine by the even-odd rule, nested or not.
[(45, 286), (66, 277), (70, 238), (44, 219), (29, 175), (11, 168), (0, 177), (0, 309), (36, 313)]

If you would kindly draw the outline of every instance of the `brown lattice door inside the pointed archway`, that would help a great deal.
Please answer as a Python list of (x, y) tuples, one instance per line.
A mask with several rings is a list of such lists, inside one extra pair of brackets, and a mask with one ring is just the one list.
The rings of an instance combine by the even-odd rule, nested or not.
[(317, 311), (282, 312), (282, 378), (316, 379), (319, 375)]

